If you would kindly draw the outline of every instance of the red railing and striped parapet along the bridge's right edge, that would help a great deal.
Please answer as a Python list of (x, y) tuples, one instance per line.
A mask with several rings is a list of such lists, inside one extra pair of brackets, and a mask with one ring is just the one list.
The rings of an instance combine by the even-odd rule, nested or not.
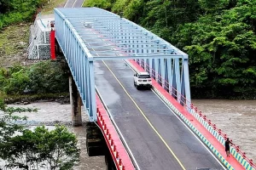
[[(218, 141), (224, 145), (224, 142), (225, 140), (228, 138), (227, 137), (227, 134), (226, 133), (223, 133), (222, 130), (220, 128), (218, 128), (216, 126), (216, 124), (212, 123), (212, 121), (210, 119), (207, 118), (207, 116), (203, 115), (201, 113), (201, 111), (199, 111), (197, 109), (197, 107), (195, 107), (195, 105), (193, 105), (188, 99), (186, 99), (185, 96), (183, 96), (183, 94), (180, 94), (176, 88), (170, 86), (169, 82), (166, 81), (165, 78), (161, 77), (160, 74), (157, 73), (157, 71), (154, 71), (153, 68), (151, 68), (146, 62), (143, 63), (144, 65), (146, 65), (146, 67), (144, 67), (143, 69), (145, 71), (148, 71), (148, 73), (150, 74), (150, 71), (151, 71), (151, 77), (154, 78), (154, 80), (158, 83), (160, 83), (160, 85), (162, 86), (162, 88), (166, 89), (167, 92), (169, 92), (172, 97), (174, 99), (177, 99), (179, 98), (178, 102), (183, 105), (183, 107), (187, 108), (187, 110), (191, 110), (192, 113), (195, 113), (192, 114), (193, 116), (195, 116), (195, 118), (200, 121), (199, 119), (201, 118), (204, 122), (207, 123), (207, 130), (212, 133), (212, 135), (218, 139)], [(157, 77), (157, 78), (156, 78)], [(164, 80), (164, 81), (162, 81)], [(171, 87), (171, 89), (169, 88)], [(204, 126), (205, 127), (205, 126)], [(213, 131), (211, 132), (209, 130), (209, 127), (213, 129)], [(215, 132), (217, 133), (215, 133)], [(241, 162), (242, 166), (243, 167), (248, 167), (248, 165), (250, 165), (251, 167), (253, 168), (256, 168), (256, 164), (253, 162), (252, 159), (249, 159), (247, 156), (246, 156), (246, 152), (244, 152), (243, 150), (241, 150), (240, 146), (237, 145), (237, 144), (234, 144), (232, 143), (232, 139), (230, 139), (231, 141), (231, 154), (236, 158), (237, 161)], [(245, 161), (243, 161), (243, 159), (245, 161), (247, 161), (247, 163)]]

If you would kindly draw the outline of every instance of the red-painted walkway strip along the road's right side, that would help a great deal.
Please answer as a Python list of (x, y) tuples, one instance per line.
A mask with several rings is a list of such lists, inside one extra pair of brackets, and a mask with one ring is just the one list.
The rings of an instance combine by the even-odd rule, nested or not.
[[(144, 69), (137, 64), (136, 61), (129, 59), (128, 60), (131, 65), (135, 66), (137, 68), (138, 71), (144, 71)], [(234, 156), (227, 157), (226, 153), (224, 151), (224, 145), (222, 145), (218, 139), (216, 139), (212, 133), (210, 133), (206, 127), (203, 127), (203, 125), (198, 122), (196, 120), (196, 118), (194, 116), (192, 116), (182, 105), (180, 105), (179, 103), (177, 103), (177, 100), (174, 99), (172, 97), (171, 94), (169, 94), (168, 92), (166, 92), (166, 90), (164, 88), (162, 88), (153, 78), (152, 78), (152, 85), (154, 86), (154, 88), (156, 88), (157, 90), (160, 91), (161, 94), (163, 94), (166, 99), (168, 99), (172, 105), (174, 105), (177, 110), (183, 114), (183, 116), (185, 116), (189, 122), (191, 124), (193, 124), (194, 127), (196, 127), (197, 130), (199, 130), (199, 132), (205, 137), (207, 138), (207, 140), (212, 144), (212, 146), (218, 150), (218, 152), (220, 153), (221, 156), (223, 156), (225, 158), (226, 161), (228, 161), (230, 163), (230, 165), (232, 167), (234, 167), (235, 169), (241, 170), (241, 169), (245, 169), (244, 167), (241, 166), (241, 163), (239, 161), (236, 160), (236, 158)]]

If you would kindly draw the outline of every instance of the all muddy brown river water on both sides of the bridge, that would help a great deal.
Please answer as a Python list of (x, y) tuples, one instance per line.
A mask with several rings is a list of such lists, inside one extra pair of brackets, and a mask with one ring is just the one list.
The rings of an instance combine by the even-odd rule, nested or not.
[[(227, 133), (234, 143), (247, 153), (250, 159), (256, 161), (256, 100), (218, 100), (193, 99), (192, 102), (207, 118)], [(70, 131), (79, 139), (81, 149), (80, 163), (75, 170), (102, 170), (106, 169), (103, 156), (89, 157), (86, 153), (86, 131), (84, 127), (71, 127), (71, 107), (56, 102), (37, 102), (30, 105), (10, 105), (38, 108), (37, 113), (22, 113), (28, 116), (31, 125), (45, 124), (51, 128), (54, 122), (66, 124)], [(88, 121), (83, 116), (83, 122)]]

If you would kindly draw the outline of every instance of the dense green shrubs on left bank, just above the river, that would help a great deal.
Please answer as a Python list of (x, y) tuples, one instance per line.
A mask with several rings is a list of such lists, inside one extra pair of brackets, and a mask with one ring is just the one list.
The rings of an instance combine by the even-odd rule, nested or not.
[(46, 60), (29, 68), (14, 65), (0, 69), (0, 91), (5, 94), (68, 92), (68, 77), (60, 62)]

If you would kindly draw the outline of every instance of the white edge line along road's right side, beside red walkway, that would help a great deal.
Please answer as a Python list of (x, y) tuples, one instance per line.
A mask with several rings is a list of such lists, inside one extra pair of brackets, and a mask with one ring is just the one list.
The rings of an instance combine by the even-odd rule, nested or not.
[(223, 167), (223, 169), (226, 169), (226, 167), (224, 167), (224, 165), (217, 159), (217, 157), (212, 154), (212, 151), (209, 150), (209, 148), (206, 146), (206, 144), (204, 144), (204, 143), (201, 141), (201, 139), (199, 139), (198, 136), (196, 136), (195, 133), (193, 133), (193, 131), (181, 120), (181, 118), (180, 118), (179, 116), (177, 116), (177, 114), (174, 113), (174, 111), (172, 111), (172, 109), (170, 108), (170, 106), (167, 105), (166, 102), (165, 102), (163, 99), (161, 99), (160, 96), (159, 96), (158, 94), (156, 94), (153, 89), (151, 89), (151, 91), (166, 105), (166, 107), (172, 112), (172, 114), (175, 115), (175, 116), (177, 117), (177, 119), (178, 119), (180, 122), (182, 122), (183, 125), (184, 125), (187, 129), (189, 129), (189, 132), (192, 133), (192, 134), (195, 136), (195, 139), (197, 139), (197, 140), (207, 149), (207, 151), (212, 155), (212, 157), (213, 157), (216, 161), (218, 161), (219, 165), (221, 165), (221, 167)]

